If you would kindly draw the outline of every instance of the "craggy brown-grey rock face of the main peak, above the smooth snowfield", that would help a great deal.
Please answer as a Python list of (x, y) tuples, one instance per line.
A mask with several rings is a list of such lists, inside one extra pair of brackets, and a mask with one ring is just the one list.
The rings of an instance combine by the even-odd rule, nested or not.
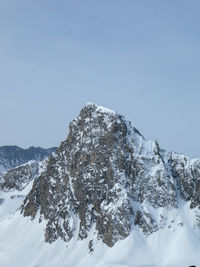
[(93, 232), (112, 247), (134, 229), (150, 235), (165, 227), (166, 216), (150, 209), (177, 209), (180, 197), (200, 207), (199, 181), (199, 160), (165, 152), (123, 116), (89, 103), (34, 180), (21, 212), (47, 220), (49, 243)]

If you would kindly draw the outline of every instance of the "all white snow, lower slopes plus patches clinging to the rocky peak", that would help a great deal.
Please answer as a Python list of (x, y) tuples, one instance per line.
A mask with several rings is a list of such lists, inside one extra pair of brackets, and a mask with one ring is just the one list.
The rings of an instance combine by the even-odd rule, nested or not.
[[(93, 103), (87, 103), (86, 106), (95, 106), (96, 111), (103, 112), (106, 116), (104, 121), (109, 127), (114, 111), (96, 106)], [(101, 115), (101, 114), (100, 114)], [(99, 115), (97, 115), (99, 116)], [(89, 122), (89, 119), (86, 119)], [(74, 122), (75, 123), (75, 122)], [(138, 161), (144, 162), (144, 175), (148, 177), (149, 184), (156, 180), (159, 171), (164, 170), (164, 163), (157, 162), (158, 145), (156, 141), (145, 141), (133, 128), (128, 128), (127, 141), (130, 146), (134, 145), (134, 157)], [(95, 128), (91, 131), (92, 135), (97, 135), (99, 129)], [(80, 138), (83, 138), (81, 133)], [(89, 143), (89, 139), (85, 139)], [(94, 138), (95, 142), (95, 138)], [(78, 150), (79, 147), (75, 147)], [(189, 160), (182, 154), (167, 153), (162, 151), (164, 161), (167, 162), (168, 157), (172, 155), (174, 158), (187, 160), (187, 168), (198, 163), (198, 160)], [(56, 155), (54, 155), (56, 157)], [(143, 157), (143, 159), (141, 159)], [(143, 160), (143, 161), (142, 161)], [(114, 162), (114, 159), (112, 160)], [(40, 172), (45, 169), (47, 161), (40, 163)], [(106, 171), (107, 168), (103, 168)], [(115, 171), (115, 176), (120, 177), (119, 183), (116, 182), (111, 193), (117, 194), (115, 202), (107, 203), (102, 201), (102, 209), (106, 212), (115, 212), (122, 204), (129, 200), (127, 190), (122, 186), (125, 183), (125, 175), (123, 172)], [(62, 169), (58, 165), (58, 173), (62, 176)], [(69, 176), (70, 192), (74, 194), (73, 177)], [(83, 173), (83, 179), (90, 180), (90, 173)], [(160, 173), (160, 179), (166, 178), (164, 171)], [(167, 181), (170, 182), (170, 178)], [(56, 180), (49, 177), (53, 186)], [(101, 182), (104, 180), (102, 179)], [(139, 183), (140, 181), (138, 181)], [(178, 208), (158, 207), (154, 208), (152, 203), (147, 200), (142, 203), (131, 202), (133, 210), (140, 210), (142, 213), (150, 214), (158, 223), (159, 230), (144, 235), (142, 229), (134, 224), (131, 225), (132, 230), (129, 236), (124, 240), (119, 240), (112, 248), (106, 246), (102, 240), (97, 238), (95, 224), (91, 231), (83, 241), (78, 239), (79, 219), (72, 211), (69, 216), (69, 227), (74, 227), (75, 234), (69, 243), (63, 242), (58, 238), (52, 244), (45, 242), (45, 227), (47, 221), (44, 219), (39, 223), (39, 212), (34, 220), (30, 217), (23, 217), (18, 210), (25, 196), (32, 187), (31, 182), (24, 190), (12, 192), (0, 192), (0, 266), (2, 267), (182, 267), (199, 264), (200, 252), (200, 229), (197, 226), (196, 214), (197, 209), (190, 208), (190, 202), (178, 199)], [(168, 189), (168, 187), (166, 187)], [(136, 188), (137, 190), (137, 188)], [(135, 191), (136, 191), (135, 190)], [(156, 193), (165, 193), (155, 188)], [(161, 190), (161, 189), (160, 189)], [(152, 191), (148, 191), (152, 194)], [(171, 194), (170, 190), (166, 192), (167, 196)], [(54, 195), (56, 197), (56, 195)], [(151, 198), (149, 197), (151, 200)], [(88, 207), (90, 211), (92, 205)], [(112, 214), (112, 215), (113, 215)], [(113, 216), (114, 216), (113, 215)], [(135, 216), (134, 215), (134, 216)], [(88, 213), (90, 216), (90, 213)], [(148, 220), (148, 217), (145, 217)], [(63, 219), (59, 219), (59, 224), (63, 225)], [(89, 251), (89, 242), (93, 242), (93, 252)]]

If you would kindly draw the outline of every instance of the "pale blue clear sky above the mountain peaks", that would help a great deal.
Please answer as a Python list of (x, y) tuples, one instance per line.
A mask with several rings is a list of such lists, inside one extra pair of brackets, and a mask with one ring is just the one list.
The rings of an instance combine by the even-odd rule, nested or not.
[(200, 157), (199, 0), (1, 0), (0, 145), (58, 146), (86, 102)]

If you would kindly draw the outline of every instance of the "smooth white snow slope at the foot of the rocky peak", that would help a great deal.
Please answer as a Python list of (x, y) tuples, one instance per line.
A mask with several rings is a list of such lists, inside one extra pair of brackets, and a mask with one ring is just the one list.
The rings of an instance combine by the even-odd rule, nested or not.
[[(88, 243), (94, 232), (84, 241), (77, 241), (77, 235), (66, 245), (58, 239), (45, 243), (45, 221), (39, 217), (30, 220), (16, 210), (23, 201), (31, 184), (20, 192), (7, 193), (0, 206), (0, 266), (2, 267), (182, 267), (200, 264), (200, 232), (194, 228), (194, 211), (189, 203), (181, 203), (180, 209), (168, 211), (169, 227), (149, 237), (140, 230), (109, 248), (96, 240), (94, 252), (89, 253)], [(148, 205), (146, 205), (148, 209)], [(152, 210), (157, 216), (161, 210)], [(184, 221), (184, 224), (182, 224)]]

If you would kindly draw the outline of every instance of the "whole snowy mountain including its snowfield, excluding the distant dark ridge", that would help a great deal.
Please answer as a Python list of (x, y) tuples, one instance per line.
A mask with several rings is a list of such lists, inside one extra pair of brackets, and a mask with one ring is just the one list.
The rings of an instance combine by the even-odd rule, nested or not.
[(0, 188), (3, 266), (198, 264), (200, 160), (160, 149), (114, 111), (88, 103), (49, 159)]

